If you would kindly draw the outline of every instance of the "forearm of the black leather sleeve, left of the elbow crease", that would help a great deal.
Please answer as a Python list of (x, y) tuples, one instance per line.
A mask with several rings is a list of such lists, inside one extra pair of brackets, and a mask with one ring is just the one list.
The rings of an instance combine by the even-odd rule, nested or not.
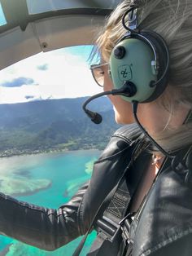
[(88, 187), (85, 183), (58, 210), (17, 201), (0, 194), (0, 231), (28, 245), (54, 250), (81, 236), (78, 210)]

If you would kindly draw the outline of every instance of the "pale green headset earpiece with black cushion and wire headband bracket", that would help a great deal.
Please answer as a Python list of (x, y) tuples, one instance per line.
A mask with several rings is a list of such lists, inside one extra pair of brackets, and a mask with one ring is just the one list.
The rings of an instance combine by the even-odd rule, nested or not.
[[(129, 17), (129, 26), (125, 19)], [(122, 18), (128, 30), (111, 52), (109, 74), (115, 89), (127, 86), (123, 99), (151, 102), (161, 95), (168, 83), (169, 53), (164, 39), (154, 31), (137, 29), (137, 5)]]

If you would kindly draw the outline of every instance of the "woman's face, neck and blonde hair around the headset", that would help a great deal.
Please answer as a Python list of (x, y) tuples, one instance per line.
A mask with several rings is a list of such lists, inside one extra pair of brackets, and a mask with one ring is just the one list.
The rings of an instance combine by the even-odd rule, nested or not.
[[(122, 17), (133, 2), (139, 7), (137, 27), (141, 30), (150, 29), (163, 36), (171, 58), (164, 93), (149, 103), (139, 104), (137, 117), (156, 142), (167, 151), (174, 151), (192, 142), (192, 124), (182, 125), (192, 106), (192, 33), (189, 29), (192, 1), (124, 1), (116, 8), (97, 40), (103, 64), (100, 66), (100, 76), (98, 71), (95, 72), (95, 79), (106, 91), (114, 88), (108, 75), (108, 63), (116, 43), (126, 33)], [(135, 121), (132, 105), (128, 101), (120, 96), (109, 95), (109, 98), (114, 106), (117, 123), (129, 124)]]

